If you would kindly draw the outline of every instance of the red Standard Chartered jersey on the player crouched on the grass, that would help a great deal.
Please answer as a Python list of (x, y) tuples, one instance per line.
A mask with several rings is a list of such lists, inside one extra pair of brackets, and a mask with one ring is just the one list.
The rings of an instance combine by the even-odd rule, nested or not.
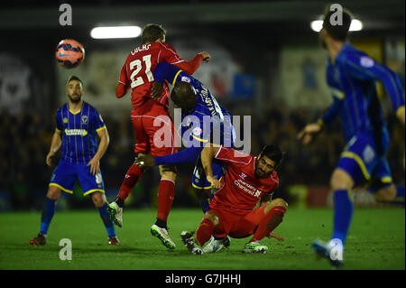
[(256, 157), (234, 149), (220, 147), (215, 158), (227, 164), (222, 188), (217, 190), (210, 208), (227, 209), (236, 215), (251, 212), (263, 194), (271, 194), (278, 188), (279, 178), (275, 171), (266, 178), (255, 177)]

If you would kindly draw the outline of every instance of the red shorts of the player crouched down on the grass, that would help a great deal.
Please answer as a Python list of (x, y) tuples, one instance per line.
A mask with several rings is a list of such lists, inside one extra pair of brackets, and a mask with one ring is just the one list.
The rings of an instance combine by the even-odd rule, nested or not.
[(241, 215), (226, 208), (212, 208), (209, 212), (215, 212), (218, 217), (218, 225), (214, 231), (216, 237), (244, 238), (253, 235), (261, 220), (265, 217), (266, 205), (251, 212)]

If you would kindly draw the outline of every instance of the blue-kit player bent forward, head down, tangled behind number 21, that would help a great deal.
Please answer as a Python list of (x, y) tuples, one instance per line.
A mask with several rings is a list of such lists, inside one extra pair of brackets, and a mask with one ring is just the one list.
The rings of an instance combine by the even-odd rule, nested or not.
[[(199, 156), (204, 144), (207, 143), (214, 142), (226, 147), (233, 146), (235, 135), (234, 128), (231, 125), (231, 114), (226, 108), (218, 105), (216, 98), (198, 79), (191, 77), (171, 64), (158, 64), (154, 72), (154, 78), (152, 97), (161, 95), (165, 82), (174, 85), (171, 100), (176, 107), (181, 108), (181, 120), (186, 125), (182, 125), (180, 135), (182, 135), (182, 143), (186, 143), (187, 148), (167, 156), (153, 157), (140, 153), (135, 163), (140, 167), (150, 167), (162, 164), (174, 165), (196, 162), (192, 185), (198, 196), (200, 207), (206, 213), (209, 208), (208, 199), (211, 197), (211, 183), (206, 179), (206, 173), (203, 170)], [(213, 161), (212, 170), (217, 179), (223, 176), (223, 168), (220, 162)], [(214, 237), (212, 241), (215, 240), (222, 243), (216, 250), (229, 244), (227, 237), (224, 239)], [(220, 240), (225, 241), (224, 245)]]

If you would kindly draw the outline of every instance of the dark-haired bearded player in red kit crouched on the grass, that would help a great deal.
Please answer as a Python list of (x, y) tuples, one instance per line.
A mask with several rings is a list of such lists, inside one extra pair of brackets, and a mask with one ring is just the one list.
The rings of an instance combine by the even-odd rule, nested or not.
[[(201, 163), (208, 181), (217, 191), (195, 239), (194, 232), (184, 231), (181, 234), (183, 244), (192, 254), (203, 254), (198, 246), (204, 246), (212, 235), (234, 238), (253, 236), (245, 244), (245, 253), (266, 253), (268, 247), (261, 244), (264, 237), (283, 240), (272, 233), (281, 224), (288, 209), (284, 200), (272, 200), (272, 194), (279, 185), (276, 169), (282, 158), (283, 153), (275, 145), (263, 147), (258, 157), (216, 144), (208, 144), (203, 149)], [(213, 159), (226, 164), (222, 181), (213, 177)], [(258, 202), (260, 206), (255, 209)]]

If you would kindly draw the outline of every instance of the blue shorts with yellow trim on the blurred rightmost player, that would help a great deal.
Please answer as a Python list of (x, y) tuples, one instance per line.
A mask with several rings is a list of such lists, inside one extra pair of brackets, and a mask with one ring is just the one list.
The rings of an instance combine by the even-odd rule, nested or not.
[(383, 155), (377, 152), (374, 136), (358, 133), (346, 144), (346, 148), (338, 161), (337, 168), (346, 171), (355, 185), (367, 184), (368, 190), (377, 190), (392, 184), (392, 173), (384, 157), (389, 145), (389, 136), (383, 134)]

